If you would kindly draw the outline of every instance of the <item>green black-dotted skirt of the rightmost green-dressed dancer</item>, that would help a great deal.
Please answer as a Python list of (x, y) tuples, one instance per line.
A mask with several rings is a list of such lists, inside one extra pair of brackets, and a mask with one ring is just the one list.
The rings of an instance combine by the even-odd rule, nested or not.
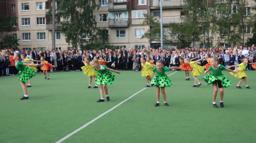
[(207, 82), (208, 86), (209, 84), (212, 84), (212, 82), (215, 81), (221, 81), (221, 85), (223, 87), (231, 86), (231, 80), (228, 79), (225, 75), (221, 73), (221, 75), (214, 75), (213, 73), (210, 73), (209, 75), (204, 77), (205, 82)]

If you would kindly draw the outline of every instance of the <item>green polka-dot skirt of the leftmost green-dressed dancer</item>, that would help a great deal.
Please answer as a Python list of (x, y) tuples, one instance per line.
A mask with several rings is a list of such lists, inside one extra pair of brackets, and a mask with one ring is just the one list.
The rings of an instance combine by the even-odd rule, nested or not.
[(17, 75), (19, 76), (18, 80), (20, 80), (20, 82), (28, 82), (28, 80), (34, 77), (36, 74), (33, 70), (31, 70), (31, 68), (26, 66), (26, 68), (24, 68), (24, 70), (20, 70)]

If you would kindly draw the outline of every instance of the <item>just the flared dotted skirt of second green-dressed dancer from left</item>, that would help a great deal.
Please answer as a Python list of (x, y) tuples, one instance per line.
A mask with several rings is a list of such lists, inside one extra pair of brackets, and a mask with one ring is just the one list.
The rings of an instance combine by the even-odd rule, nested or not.
[(110, 85), (113, 84), (114, 80), (116, 79), (116, 76), (107, 71), (106, 73), (98, 73), (95, 83), (98, 85)]

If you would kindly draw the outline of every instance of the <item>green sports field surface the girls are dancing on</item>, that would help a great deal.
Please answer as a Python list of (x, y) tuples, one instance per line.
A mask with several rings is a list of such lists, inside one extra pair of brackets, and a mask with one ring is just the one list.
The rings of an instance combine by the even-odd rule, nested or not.
[[(212, 86), (204, 80), (192, 87), (184, 72), (166, 72), (172, 81), (166, 87), (167, 102), (156, 104), (156, 87), (144, 89), (141, 72), (121, 72), (108, 86), (109, 102), (97, 103), (99, 89), (88, 89), (83, 72), (36, 73), (28, 88), (28, 100), (17, 76), (0, 77), (0, 142), (58, 142), (69, 133), (123, 102), (127, 102), (63, 142), (256, 142), (256, 72), (244, 71), (251, 89), (237, 89), (238, 79), (224, 89), (225, 108), (212, 107)], [(202, 79), (200, 75), (198, 79)], [(94, 86), (94, 82), (92, 82)], [(218, 93), (217, 100), (220, 100)], [(220, 106), (220, 103), (217, 102)]]

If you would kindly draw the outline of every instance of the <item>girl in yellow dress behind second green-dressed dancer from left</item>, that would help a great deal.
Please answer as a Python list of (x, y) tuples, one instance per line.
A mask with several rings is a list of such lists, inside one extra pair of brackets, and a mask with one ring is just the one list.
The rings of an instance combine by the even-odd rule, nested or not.
[[(95, 80), (98, 72), (96, 72), (93, 69), (92, 64), (90, 64), (90, 58), (89, 57), (84, 57), (83, 63), (84, 63), (84, 66), (82, 66), (81, 69), (83, 70), (84, 75), (89, 77), (89, 86), (88, 86), (88, 88), (90, 88), (91, 84), (92, 84), (92, 77), (94, 77), (94, 80)], [(97, 87), (98, 87), (98, 85), (95, 83), (95, 87), (93, 87), (93, 88), (97, 88)]]

